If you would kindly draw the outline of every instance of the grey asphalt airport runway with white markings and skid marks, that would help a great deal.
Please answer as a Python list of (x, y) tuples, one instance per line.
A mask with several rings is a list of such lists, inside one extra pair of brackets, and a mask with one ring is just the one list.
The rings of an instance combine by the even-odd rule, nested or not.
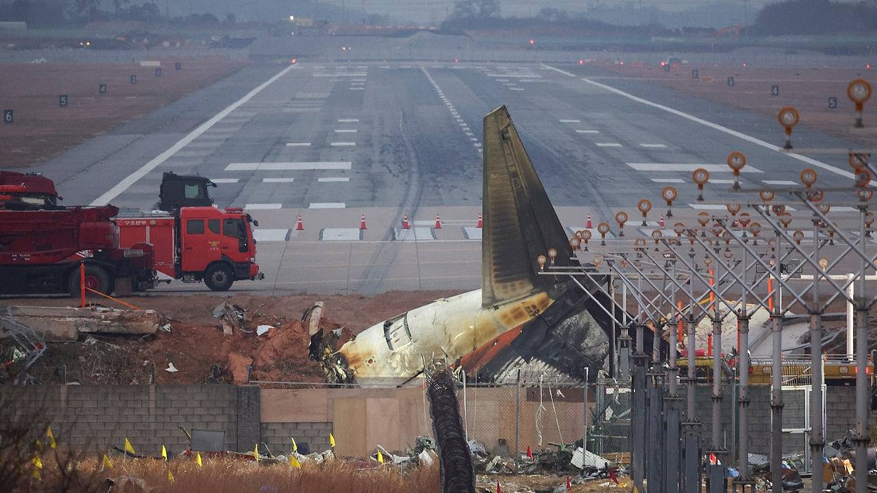
[[(774, 118), (601, 68), (420, 62), (254, 65), (31, 170), (57, 182), (64, 204), (141, 210), (157, 202), (162, 172), (209, 176), (217, 204), (260, 222), (267, 279), (232, 290), (477, 289), (481, 118), (501, 104), (570, 234), (588, 214), (596, 225), (622, 208), (635, 227), (644, 197), (657, 227), (667, 185), (679, 191), (675, 220), (724, 210), (739, 200), (725, 165), (733, 151), (747, 157), (745, 187), (797, 184), (802, 168), (820, 184), (852, 182), (845, 155), (781, 154)], [(795, 143), (847, 146), (806, 128)], [(711, 176), (698, 202), (701, 167)], [(193, 289), (205, 288), (160, 291)]]

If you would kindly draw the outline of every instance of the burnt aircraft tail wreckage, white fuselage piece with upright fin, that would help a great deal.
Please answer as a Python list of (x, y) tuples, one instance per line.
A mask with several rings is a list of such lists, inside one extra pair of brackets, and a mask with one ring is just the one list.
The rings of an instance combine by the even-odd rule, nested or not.
[[(596, 375), (610, 351), (610, 319), (567, 276), (540, 275), (538, 255), (580, 267), (524, 144), (502, 106), (484, 118), (481, 289), (436, 300), (360, 332), (337, 351), (317, 334), (311, 355), (331, 380), (402, 383), (443, 357), (481, 381), (513, 381), (517, 369), (575, 380)], [(593, 282), (582, 284), (617, 305)], [(620, 312), (617, 313), (620, 318)], [(530, 367), (533, 368), (533, 367)]]

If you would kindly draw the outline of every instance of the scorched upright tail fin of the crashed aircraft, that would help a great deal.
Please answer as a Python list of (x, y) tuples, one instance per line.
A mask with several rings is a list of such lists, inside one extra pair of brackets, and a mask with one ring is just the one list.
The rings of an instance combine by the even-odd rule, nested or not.
[(484, 225), (481, 304), (488, 307), (562, 282), (539, 275), (538, 255), (558, 251), (555, 266), (579, 266), (524, 143), (500, 106), (484, 117)]

